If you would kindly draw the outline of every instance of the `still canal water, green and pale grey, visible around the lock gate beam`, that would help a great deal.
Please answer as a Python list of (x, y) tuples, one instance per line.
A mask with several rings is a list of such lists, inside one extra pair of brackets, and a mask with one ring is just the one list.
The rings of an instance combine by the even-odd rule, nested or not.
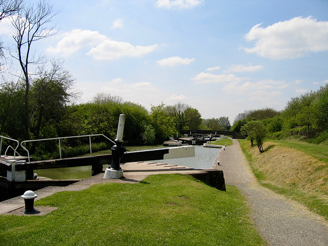
[[(203, 146), (194, 146), (195, 156), (177, 159), (166, 160), (154, 160), (154, 162), (175, 164), (179, 166), (185, 166), (195, 169), (211, 168), (216, 156), (221, 149), (219, 148), (205, 148)], [(129, 151), (140, 151), (150, 149), (162, 149), (162, 145), (157, 146), (138, 146), (138, 147), (126, 147)], [(110, 150), (99, 151), (93, 153), (93, 155), (110, 154)], [(105, 167), (105, 166), (104, 166)], [(122, 165), (124, 167), (124, 165)], [(107, 167), (106, 167), (107, 168)], [(38, 176), (48, 177), (51, 179), (81, 179), (91, 177), (91, 166), (75, 167), (75, 168), (57, 168), (57, 169), (43, 169), (35, 170)]]

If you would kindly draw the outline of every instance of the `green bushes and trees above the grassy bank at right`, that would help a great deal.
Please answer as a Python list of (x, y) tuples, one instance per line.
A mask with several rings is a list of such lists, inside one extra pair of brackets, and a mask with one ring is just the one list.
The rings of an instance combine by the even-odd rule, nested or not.
[(240, 132), (263, 151), (264, 138), (297, 138), (328, 144), (328, 84), (317, 91), (293, 97), (282, 111), (271, 108), (239, 113), (231, 131)]

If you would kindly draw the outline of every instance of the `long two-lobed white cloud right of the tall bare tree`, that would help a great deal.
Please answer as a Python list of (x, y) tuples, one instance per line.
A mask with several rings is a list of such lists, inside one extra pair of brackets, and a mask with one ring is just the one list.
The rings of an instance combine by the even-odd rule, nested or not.
[(50, 47), (47, 51), (67, 56), (82, 48), (87, 48), (89, 49), (87, 54), (93, 56), (94, 59), (108, 60), (122, 56), (141, 56), (154, 51), (157, 47), (157, 45), (133, 46), (127, 42), (111, 40), (97, 31), (74, 29), (65, 33), (56, 47)]

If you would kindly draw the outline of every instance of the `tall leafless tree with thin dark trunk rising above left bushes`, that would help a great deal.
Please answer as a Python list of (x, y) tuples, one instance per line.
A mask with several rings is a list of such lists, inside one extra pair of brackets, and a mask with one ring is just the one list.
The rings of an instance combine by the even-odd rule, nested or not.
[(29, 139), (30, 115), (29, 115), (29, 89), (30, 89), (30, 72), (29, 65), (37, 65), (42, 63), (42, 58), (35, 57), (31, 51), (34, 42), (52, 36), (56, 33), (55, 26), (48, 26), (52, 18), (58, 12), (53, 12), (52, 5), (45, 1), (40, 1), (38, 4), (24, 5), (15, 18), (12, 18), (14, 26), (13, 38), (16, 45), (17, 59), (22, 68), (23, 79), (25, 80), (25, 134), (26, 139)]

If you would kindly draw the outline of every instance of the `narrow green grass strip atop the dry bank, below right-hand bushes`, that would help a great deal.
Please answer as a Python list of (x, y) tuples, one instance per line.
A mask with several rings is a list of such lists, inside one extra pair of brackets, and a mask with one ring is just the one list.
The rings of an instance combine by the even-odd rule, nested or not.
[(277, 144), (281, 144), (286, 147), (291, 147), (297, 150), (300, 150), (306, 154), (309, 154), (319, 160), (325, 161), (328, 163), (328, 146), (324, 145), (315, 145), (309, 144), (307, 142), (299, 142), (293, 140), (272, 140), (271, 142), (275, 142)]

